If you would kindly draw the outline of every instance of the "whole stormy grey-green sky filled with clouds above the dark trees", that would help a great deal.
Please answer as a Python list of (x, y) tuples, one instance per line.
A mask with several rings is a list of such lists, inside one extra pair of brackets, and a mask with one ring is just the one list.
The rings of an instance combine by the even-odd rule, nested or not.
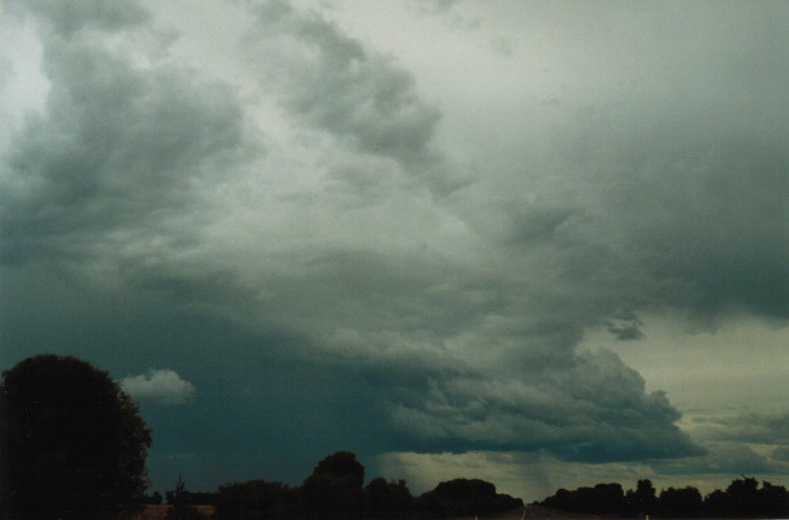
[(789, 486), (789, 3), (6, 0), (0, 369), (152, 489)]

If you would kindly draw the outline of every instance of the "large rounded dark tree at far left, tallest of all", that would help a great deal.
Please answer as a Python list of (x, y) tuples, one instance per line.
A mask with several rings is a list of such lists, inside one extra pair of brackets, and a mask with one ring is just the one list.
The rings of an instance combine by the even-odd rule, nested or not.
[(107, 519), (139, 510), (151, 430), (107, 373), (39, 355), (0, 384), (0, 514)]

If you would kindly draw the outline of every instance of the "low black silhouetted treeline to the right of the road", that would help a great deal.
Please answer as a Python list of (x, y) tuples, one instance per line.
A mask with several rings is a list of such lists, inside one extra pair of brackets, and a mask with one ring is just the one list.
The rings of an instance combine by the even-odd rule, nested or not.
[(560, 489), (541, 506), (584, 514), (658, 518), (789, 518), (789, 492), (782, 486), (742, 476), (721, 491), (701, 497), (698, 489), (668, 488), (657, 494), (650, 480), (623, 491), (618, 483), (598, 483), (575, 491)]

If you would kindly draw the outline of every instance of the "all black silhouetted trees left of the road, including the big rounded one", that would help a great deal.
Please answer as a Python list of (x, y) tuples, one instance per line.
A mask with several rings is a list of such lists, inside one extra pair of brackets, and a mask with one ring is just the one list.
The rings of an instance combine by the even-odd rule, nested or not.
[(420, 497), (403, 480), (365, 486), (365, 467), (348, 451), (326, 457), (299, 487), (252, 480), (195, 493), (178, 476), (164, 497), (145, 496), (152, 440), (139, 407), (106, 371), (72, 356), (20, 361), (0, 381), (0, 520), (139, 518), (164, 500), (171, 520), (209, 512), (233, 520), (426, 519), (523, 504), (482, 480), (441, 482)]

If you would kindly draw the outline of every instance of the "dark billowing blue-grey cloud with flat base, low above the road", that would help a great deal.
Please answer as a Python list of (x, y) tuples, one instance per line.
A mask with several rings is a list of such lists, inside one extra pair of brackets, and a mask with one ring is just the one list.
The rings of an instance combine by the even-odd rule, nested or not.
[[(423, 446), (547, 450), (590, 462), (699, 455), (662, 392), (611, 353), (583, 353), (520, 378), (433, 374), (398, 402), (394, 424)], [(413, 447), (411, 447), (413, 449)]]

